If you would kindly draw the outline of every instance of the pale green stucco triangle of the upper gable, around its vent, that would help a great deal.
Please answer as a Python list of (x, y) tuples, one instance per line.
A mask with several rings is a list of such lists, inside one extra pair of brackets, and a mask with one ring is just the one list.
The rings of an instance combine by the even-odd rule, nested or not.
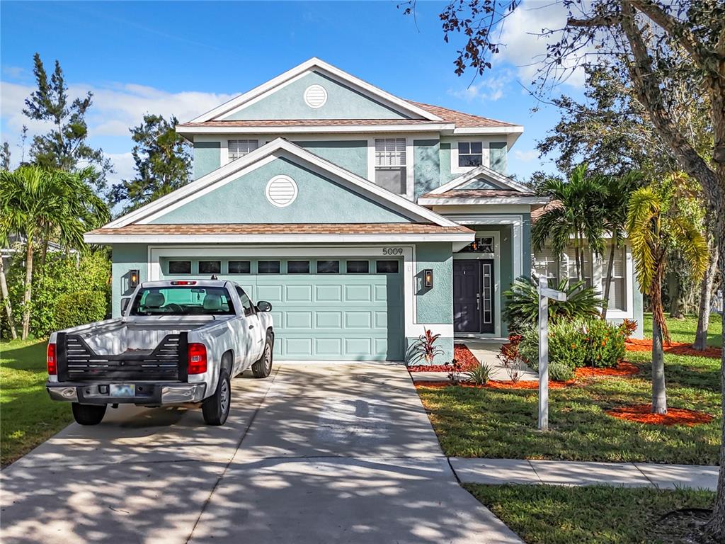
[[(316, 109), (305, 104), (304, 98), (305, 89), (315, 83), (327, 91), (327, 102)], [(223, 119), (406, 119), (406, 117), (325, 75), (312, 72)]]

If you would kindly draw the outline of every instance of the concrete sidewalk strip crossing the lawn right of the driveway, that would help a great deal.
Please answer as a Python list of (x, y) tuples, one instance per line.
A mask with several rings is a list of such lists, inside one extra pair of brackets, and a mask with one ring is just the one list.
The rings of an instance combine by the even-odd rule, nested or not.
[(595, 463), (452, 457), (458, 479), (470, 484), (615, 485), (715, 491), (718, 466)]

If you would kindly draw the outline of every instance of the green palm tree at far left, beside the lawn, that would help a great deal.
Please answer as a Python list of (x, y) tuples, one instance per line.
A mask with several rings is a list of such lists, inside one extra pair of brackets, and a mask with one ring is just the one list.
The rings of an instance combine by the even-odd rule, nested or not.
[(25, 165), (0, 172), (0, 244), (11, 234), (25, 239), (22, 339), (30, 332), (33, 252), (42, 232), (57, 233), (66, 248), (83, 250), (83, 233), (108, 220), (108, 208), (86, 184), (92, 168), (77, 172)]

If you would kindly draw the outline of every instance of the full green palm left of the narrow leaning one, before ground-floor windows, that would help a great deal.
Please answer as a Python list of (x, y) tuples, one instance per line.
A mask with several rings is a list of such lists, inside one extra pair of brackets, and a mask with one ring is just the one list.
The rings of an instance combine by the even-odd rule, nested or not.
[(587, 165), (581, 164), (572, 170), (567, 181), (548, 178), (537, 193), (548, 197), (552, 205), (531, 231), (534, 250), (542, 250), (549, 241), (558, 260), (573, 238), (576, 279), (584, 281), (585, 247), (598, 257), (604, 253), (603, 178), (587, 175)]

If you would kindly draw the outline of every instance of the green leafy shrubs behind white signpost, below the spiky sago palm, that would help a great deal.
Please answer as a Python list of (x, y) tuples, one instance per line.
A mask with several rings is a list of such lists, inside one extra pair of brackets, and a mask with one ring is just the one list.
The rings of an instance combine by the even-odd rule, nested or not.
[[(549, 326), (549, 376), (555, 380), (573, 378), (582, 366), (616, 366), (624, 358), (624, 328), (601, 319), (561, 321)], [(519, 353), (538, 370), (539, 331), (523, 332)]]

